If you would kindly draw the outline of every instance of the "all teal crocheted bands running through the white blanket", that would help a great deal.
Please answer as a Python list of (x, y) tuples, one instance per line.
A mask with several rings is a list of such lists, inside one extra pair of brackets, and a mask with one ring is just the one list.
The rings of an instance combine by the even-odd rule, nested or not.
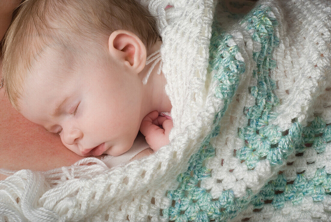
[[(202, 182), (214, 173), (206, 167), (206, 162), (215, 156), (211, 139), (220, 133), (220, 119), (233, 100), (240, 76), (245, 72), (245, 63), (236, 57), (240, 48), (233, 44), (229, 46), (233, 37), (214, 22), (209, 72), (214, 74), (216, 82), (215, 97), (224, 101), (224, 108), (216, 113), (215, 128), (205, 138), (199, 151), (191, 156), (187, 171), (178, 175), (178, 188), (167, 192), (172, 205), (163, 210), (163, 215), (169, 221), (228, 221), (247, 208), (258, 215), (267, 205), (280, 209), (285, 203), (299, 205), (304, 197), (320, 202), (331, 194), (330, 174), (324, 166), (314, 164), (318, 157), (312, 155), (325, 152), (326, 144), (331, 142), (331, 125), (319, 116), (315, 116), (305, 127), (297, 118), (293, 118), (292, 124), (285, 131), (272, 123), (279, 115), (274, 108), (280, 105), (274, 93), (277, 83), (270, 77), (270, 71), (276, 68), (272, 54), (279, 44), (275, 32), (278, 22), (270, 8), (257, 6), (241, 24), (251, 34), (253, 42), (260, 44), (260, 50), (253, 52), (256, 68), (252, 76), (256, 79), (256, 85), (248, 88), (248, 93), (255, 99), (255, 105), (244, 107), (247, 124), (237, 129), (237, 137), (244, 141), (244, 145), (235, 149), (233, 156), (246, 165), (249, 171), (254, 171), (262, 161), (267, 161), (272, 169), (278, 170), (271, 180), (266, 181), (260, 192), (254, 193), (252, 189), (246, 188), (245, 194), (240, 197), (235, 195), (234, 190), (225, 188), (215, 197), (211, 189), (202, 186)], [(312, 157), (307, 161), (309, 155)], [(221, 166), (223, 161), (221, 159)], [(293, 169), (295, 174), (290, 173)], [(305, 169), (309, 169), (308, 174)], [(230, 169), (230, 173), (232, 171)], [(291, 176), (286, 176), (284, 172)], [(223, 180), (217, 179), (215, 183), (222, 184)], [(241, 221), (250, 221), (250, 218), (243, 217)]]

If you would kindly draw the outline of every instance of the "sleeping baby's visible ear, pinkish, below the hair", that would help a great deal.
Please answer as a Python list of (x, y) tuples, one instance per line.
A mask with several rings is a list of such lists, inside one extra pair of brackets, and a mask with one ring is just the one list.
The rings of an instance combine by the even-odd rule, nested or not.
[(146, 64), (146, 47), (138, 36), (126, 30), (116, 30), (108, 40), (109, 53), (132, 71), (141, 72)]

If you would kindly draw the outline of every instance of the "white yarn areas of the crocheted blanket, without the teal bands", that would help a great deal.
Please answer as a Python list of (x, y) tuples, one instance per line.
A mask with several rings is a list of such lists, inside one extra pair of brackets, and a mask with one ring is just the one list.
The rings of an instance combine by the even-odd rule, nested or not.
[[(19, 171), (0, 182), (0, 221), (167, 221), (161, 213), (171, 206), (166, 192), (177, 188), (177, 176), (187, 170), (191, 155), (213, 129), (208, 123), (224, 106), (224, 101), (211, 96), (216, 85), (211, 78), (213, 73), (207, 73), (217, 1), (145, 0), (142, 3), (158, 16), (163, 40), (162, 71), (174, 123), (169, 145), (143, 160), (112, 169), (98, 159), (86, 158), (71, 167), (43, 173)], [(279, 23), (276, 32), (280, 42), (273, 55), (277, 69), (270, 72), (270, 77), (277, 80), (275, 94), (281, 99), (280, 114), (274, 124), (286, 130), (291, 119), (305, 123), (316, 112), (330, 123), (330, 1), (262, 0), (258, 4), (270, 7), (273, 12), (270, 16)], [(167, 5), (173, 7), (165, 10)], [(228, 189), (236, 197), (242, 197), (247, 188), (258, 192), (282, 166), (274, 169), (265, 160), (254, 170), (248, 170), (234, 158), (234, 150), (244, 143), (236, 136), (237, 128), (247, 121), (242, 110), (255, 103), (248, 87), (257, 84), (252, 78), (256, 64), (251, 58), (261, 45), (252, 41), (249, 31), (245, 31), (246, 24), (234, 22), (227, 14), (220, 14), (218, 19), (234, 37), (229, 44), (242, 49), (236, 58), (245, 62), (246, 70), (240, 77), (235, 99), (221, 119), (221, 133), (211, 140), (216, 154), (207, 160), (206, 166), (213, 174), (202, 181), (201, 187), (210, 189), (213, 197)], [(313, 69), (315, 65), (320, 69)], [(301, 90), (292, 90), (295, 87)], [(315, 164), (324, 164), (331, 173), (331, 147), (327, 146), (326, 150), (324, 156), (311, 151), (310, 156), (303, 158), (313, 158)], [(295, 163), (295, 168), (288, 168), (285, 174), (294, 175), (300, 164)], [(302, 164), (302, 167), (313, 165)], [(330, 206), (329, 196), (319, 203), (307, 198), (301, 205), (286, 204), (279, 210), (271, 206), (268, 210), (267, 206), (254, 214), (249, 205), (233, 221), (248, 217), (250, 221), (294, 221), (307, 218), (305, 212), (314, 212), (320, 221), (330, 221), (330, 215), (325, 213), (331, 211)], [(323, 211), (318, 210), (321, 207)], [(300, 209), (293, 211), (294, 208)]]

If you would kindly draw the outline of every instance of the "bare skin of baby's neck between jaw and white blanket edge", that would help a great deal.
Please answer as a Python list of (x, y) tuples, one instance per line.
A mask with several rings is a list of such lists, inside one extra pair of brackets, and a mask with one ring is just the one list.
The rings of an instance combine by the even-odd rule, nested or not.
[[(160, 49), (162, 41), (158, 41), (148, 50), (148, 54), (150, 55), (155, 51)], [(143, 70), (143, 75), (146, 75), (150, 70), (153, 62), (146, 65)], [(145, 100), (144, 100), (144, 115), (147, 115), (149, 112), (158, 111), (158, 112), (169, 112), (171, 110), (171, 103), (166, 95), (165, 86), (166, 86), (166, 78), (164, 74), (161, 72), (159, 75), (157, 71), (159, 69), (160, 62), (155, 66), (151, 75), (148, 78), (148, 81), (145, 85)]]

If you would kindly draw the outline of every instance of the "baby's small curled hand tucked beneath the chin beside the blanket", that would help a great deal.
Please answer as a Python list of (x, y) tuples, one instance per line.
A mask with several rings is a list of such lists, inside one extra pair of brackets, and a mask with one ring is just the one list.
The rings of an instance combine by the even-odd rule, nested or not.
[(169, 132), (172, 127), (171, 119), (159, 116), (158, 111), (153, 111), (144, 117), (139, 130), (145, 136), (146, 142), (152, 150), (158, 151), (161, 147), (169, 144)]

